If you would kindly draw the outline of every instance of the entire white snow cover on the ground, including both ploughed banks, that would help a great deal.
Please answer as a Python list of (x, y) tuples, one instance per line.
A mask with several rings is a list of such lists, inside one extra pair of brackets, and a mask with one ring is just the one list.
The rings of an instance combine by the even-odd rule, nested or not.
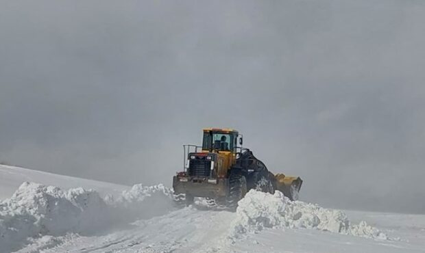
[(181, 208), (164, 185), (118, 193), (117, 185), (90, 183), (99, 192), (62, 187), (54, 174), (44, 179), (60, 187), (23, 183), (34, 172), (4, 170), (21, 186), (0, 201), (0, 252), (425, 252), (425, 215), (326, 209), (259, 191), (236, 212), (202, 200)]

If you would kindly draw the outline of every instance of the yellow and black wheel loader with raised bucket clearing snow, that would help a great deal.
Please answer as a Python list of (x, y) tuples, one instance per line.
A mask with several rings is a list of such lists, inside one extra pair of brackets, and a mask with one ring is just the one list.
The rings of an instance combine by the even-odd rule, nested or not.
[(173, 177), (176, 195), (185, 195), (186, 204), (195, 197), (215, 200), (235, 209), (250, 189), (274, 193), (282, 191), (298, 199), (302, 180), (269, 172), (252, 151), (243, 148), (243, 135), (234, 129), (203, 129), (202, 146), (183, 145), (184, 169)]

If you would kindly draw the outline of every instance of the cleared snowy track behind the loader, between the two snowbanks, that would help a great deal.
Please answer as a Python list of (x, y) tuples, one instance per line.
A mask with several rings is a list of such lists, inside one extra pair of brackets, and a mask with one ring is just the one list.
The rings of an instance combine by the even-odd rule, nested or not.
[(62, 237), (61, 245), (46, 252), (228, 252), (223, 236), (233, 217), (226, 211), (185, 208), (106, 235)]

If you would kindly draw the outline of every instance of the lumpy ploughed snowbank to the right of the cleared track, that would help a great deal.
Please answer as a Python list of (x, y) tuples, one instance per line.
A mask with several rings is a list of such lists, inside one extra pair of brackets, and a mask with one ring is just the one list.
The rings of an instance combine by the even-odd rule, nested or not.
[(263, 228), (313, 228), (345, 235), (388, 239), (387, 235), (366, 222), (351, 225), (342, 211), (291, 201), (280, 191), (266, 194), (251, 190), (238, 204), (232, 226), (235, 236)]

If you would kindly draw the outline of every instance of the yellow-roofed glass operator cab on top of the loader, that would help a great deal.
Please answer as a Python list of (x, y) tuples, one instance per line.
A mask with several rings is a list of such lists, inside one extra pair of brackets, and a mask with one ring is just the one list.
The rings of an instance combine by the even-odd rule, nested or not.
[(241, 135), (233, 129), (204, 129), (202, 150), (236, 152), (238, 139), (241, 143)]

